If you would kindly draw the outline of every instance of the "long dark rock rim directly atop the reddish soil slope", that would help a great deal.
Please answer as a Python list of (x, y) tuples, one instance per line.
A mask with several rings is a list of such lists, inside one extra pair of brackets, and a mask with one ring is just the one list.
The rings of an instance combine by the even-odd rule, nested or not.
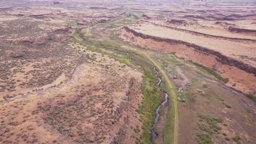
[(198, 46), (198, 45), (195, 45), (195, 44), (190, 44), (190, 43), (187, 43), (187, 42), (181, 41), (181, 40), (159, 38), (159, 37), (154, 37), (152, 35), (146, 35), (146, 34), (138, 33), (138, 32), (134, 31), (133, 29), (131, 29), (129, 27), (124, 27), (124, 29), (127, 32), (133, 33), (134, 35), (136, 35), (136, 37), (141, 37), (143, 39), (153, 39), (153, 40), (159, 41), (159, 42), (165, 41), (167, 43), (183, 44), (183, 45), (186, 45), (188, 47), (193, 47), (194, 49), (196, 49), (198, 51), (201, 51), (203, 53), (208, 53), (208, 54), (217, 56), (217, 61), (219, 61), (221, 63), (227, 64), (227, 65), (230, 65), (230, 66), (234, 66), (238, 69), (245, 70), (247, 73), (251, 73), (251, 74), (256, 75), (256, 68), (252, 67), (251, 65), (245, 64), (243, 62), (237, 61), (234, 58), (224, 56), (220, 52), (210, 50), (210, 49), (207, 49), (205, 47), (201, 47), (201, 46)]

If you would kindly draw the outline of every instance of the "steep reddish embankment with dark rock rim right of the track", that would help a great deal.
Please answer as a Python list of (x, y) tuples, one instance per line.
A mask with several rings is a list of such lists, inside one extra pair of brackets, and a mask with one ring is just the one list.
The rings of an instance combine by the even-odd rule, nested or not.
[(154, 37), (136, 32), (129, 27), (121, 29), (120, 35), (122, 39), (146, 49), (175, 52), (178, 57), (213, 68), (221, 76), (229, 79), (229, 82), (226, 83), (227, 86), (232, 86), (245, 93), (256, 93), (254, 89), (256, 87), (256, 68), (251, 65), (186, 41)]

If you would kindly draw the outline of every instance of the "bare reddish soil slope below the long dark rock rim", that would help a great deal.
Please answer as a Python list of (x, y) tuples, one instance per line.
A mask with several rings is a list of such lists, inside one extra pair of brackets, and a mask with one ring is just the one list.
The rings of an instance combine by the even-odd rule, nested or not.
[(226, 85), (232, 86), (236, 83), (234, 88), (238, 91), (242, 91), (244, 93), (256, 93), (256, 77), (254, 74), (247, 73), (235, 66), (223, 64), (217, 61), (217, 56), (196, 50), (194, 47), (189, 47), (184, 44), (170, 44), (166, 41), (155, 40), (154, 37), (142, 38), (140, 35), (137, 35), (137, 33), (133, 34), (132, 32), (133, 31), (129, 31), (127, 28), (124, 28), (120, 31), (120, 38), (145, 47), (146, 49), (167, 53), (175, 52), (175, 54), (180, 58), (192, 60), (205, 65), (206, 67), (216, 69), (220, 75), (230, 80)]

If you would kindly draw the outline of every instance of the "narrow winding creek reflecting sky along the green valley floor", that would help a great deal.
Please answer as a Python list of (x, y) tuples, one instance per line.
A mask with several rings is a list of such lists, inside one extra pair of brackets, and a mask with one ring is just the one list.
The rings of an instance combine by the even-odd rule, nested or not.
[[(154, 67), (154, 70), (156, 71), (156, 75), (155, 76), (158, 76), (158, 71), (156, 70), (156, 68)], [(162, 80), (160, 79), (160, 77), (158, 76), (158, 79), (159, 79), (159, 82), (158, 82), (158, 89), (160, 89), (160, 84), (162, 82)], [(154, 144), (155, 143), (155, 139), (156, 139), (156, 136), (158, 136), (158, 133), (156, 133), (155, 131), (155, 125), (158, 123), (159, 121), (159, 117), (160, 117), (160, 114), (159, 114), (159, 110), (161, 109), (161, 106), (164, 106), (166, 103), (167, 103), (167, 100), (168, 100), (168, 94), (165, 93), (165, 100), (158, 106), (158, 108), (156, 109), (155, 111), (155, 121), (150, 129), (151, 133), (152, 133), (152, 139), (150, 141), (151, 144)]]

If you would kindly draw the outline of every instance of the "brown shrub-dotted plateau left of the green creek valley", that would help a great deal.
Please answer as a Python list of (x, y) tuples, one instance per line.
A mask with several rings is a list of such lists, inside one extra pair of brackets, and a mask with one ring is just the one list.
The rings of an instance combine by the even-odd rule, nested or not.
[(134, 142), (142, 74), (71, 41), (117, 15), (26, 3), (1, 2), (0, 143), (110, 143), (125, 128)]

